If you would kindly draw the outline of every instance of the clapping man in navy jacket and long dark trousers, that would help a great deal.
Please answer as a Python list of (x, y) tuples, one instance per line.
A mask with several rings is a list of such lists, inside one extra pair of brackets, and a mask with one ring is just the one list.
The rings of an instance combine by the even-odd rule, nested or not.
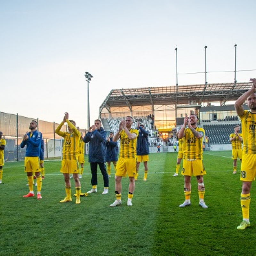
[(84, 143), (89, 143), (89, 163), (92, 172), (92, 189), (87, 193), (97, 192), (97, 166), (100, 167), (100, 172), (103, 176), (104, 190), (102, 194), (108, 194), (108, 173), (106, 169), (106, 137), (107, 132), (101, 127), (100, 119), (94, 120), (86, 135), (84, 136)]

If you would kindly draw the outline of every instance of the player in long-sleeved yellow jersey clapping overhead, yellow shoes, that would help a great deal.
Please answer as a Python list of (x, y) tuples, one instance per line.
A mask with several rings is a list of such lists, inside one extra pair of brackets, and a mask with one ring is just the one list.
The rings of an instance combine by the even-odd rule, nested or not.
[[(60, 131), (61, 127), (65, 123), (68, 124), (68, 132)], [(81, 134), (76, 129), (76, 122), (73, 120), (68, 120), (68, 112), (65, 113), (63, 121), (56, 128), (55, 132), (64, 138), (60, 172), (62, 172), (64, 176), (66, 196), (60, 201), (60, 203), (72, 201), (71, 182), (69, 178), (69, 174), (72, 173), (76, 187), (76, 204), (80, 204), (81, 183), (78, 177), (79, 167), (77, 152)]]

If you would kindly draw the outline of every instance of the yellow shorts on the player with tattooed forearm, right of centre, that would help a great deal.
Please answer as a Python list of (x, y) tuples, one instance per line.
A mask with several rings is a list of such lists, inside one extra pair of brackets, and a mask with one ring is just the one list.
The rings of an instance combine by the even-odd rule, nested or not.
[(183, 159), (182, 175), (186, 176), (201, 176), (206, 174), (202, 160), (188, 161)]

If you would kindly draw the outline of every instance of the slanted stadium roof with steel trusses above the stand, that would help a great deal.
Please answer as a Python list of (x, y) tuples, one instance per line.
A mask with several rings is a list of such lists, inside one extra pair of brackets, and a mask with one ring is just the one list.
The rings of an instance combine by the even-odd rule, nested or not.
[[(252, 87), (252, 83), (192, 84), (165, 87), (113, 89), (100, 106), (106, 108), (156, 105), (200, 105), (202, 102), (237, 100)], [(177, 106), (178, 107), (178, 106)]]

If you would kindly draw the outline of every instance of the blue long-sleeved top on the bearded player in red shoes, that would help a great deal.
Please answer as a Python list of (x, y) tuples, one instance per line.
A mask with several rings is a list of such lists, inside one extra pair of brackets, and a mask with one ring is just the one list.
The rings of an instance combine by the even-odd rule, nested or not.
[(38, 156), (40, 157), (41, 151), (41, 141), (42, 141), (42, 133), (35, 130), (32, 132), (32, 136), (30, 138), (30, 132), (27, 132), (28, 140), (22, 140), (20, 143), (20, 148), (26, 147), (25, 156)]

